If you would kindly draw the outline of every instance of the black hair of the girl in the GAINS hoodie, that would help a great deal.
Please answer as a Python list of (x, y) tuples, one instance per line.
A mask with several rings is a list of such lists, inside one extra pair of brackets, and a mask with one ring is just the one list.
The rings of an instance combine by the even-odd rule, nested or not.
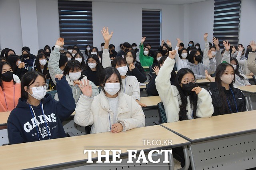
[(46, 83), (46, 78), (44, 76), (44, 74), (37, 72), (37, 71), (30, 71), (30, 72), (26, 72), (26, 74), (24, 74), (24, 76), (21, 79), (21, 97), (24, 99), (28, 99), (28, 88), (25, 91), (24, 87), (28, 87), (31, 84), (33, 84), (36, 81), (36, 78), (38, 76), (42, 76), (44, 78), (44, 82)]

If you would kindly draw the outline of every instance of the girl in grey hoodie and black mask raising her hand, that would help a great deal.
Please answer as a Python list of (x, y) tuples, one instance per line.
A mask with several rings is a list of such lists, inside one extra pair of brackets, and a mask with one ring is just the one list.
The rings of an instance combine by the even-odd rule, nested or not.
[(214, 74), (216, 70), (216, 62), (212, 59), (212, 52), (209, 50), (207, 54), (210, 59), (209, 65), (206, 66), (201, 63), (201, 55), (199, 50), (192, 50), (190, 54), (188, 54), (188, 63), (186, 68), (192, 70), (196, 79), (205, 79), (205, 70), (208, 70), (209, 74)]

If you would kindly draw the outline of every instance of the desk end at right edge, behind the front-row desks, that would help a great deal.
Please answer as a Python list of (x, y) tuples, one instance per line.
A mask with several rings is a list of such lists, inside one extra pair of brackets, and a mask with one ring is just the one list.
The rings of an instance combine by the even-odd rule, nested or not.
[(253, 110), (251, 95), (256, 94), (256, 85), (238, 86), (237, 88), (239, 88), (244, 93), (246, 107), (248, 108), (248, 110)]

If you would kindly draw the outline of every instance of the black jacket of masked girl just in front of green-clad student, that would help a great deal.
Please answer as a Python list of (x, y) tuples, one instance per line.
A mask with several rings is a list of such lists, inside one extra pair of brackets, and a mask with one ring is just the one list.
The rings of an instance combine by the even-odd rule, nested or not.
[(146, 82), (147, 76), (140, 62), (136, 61), (134, 66), (135, 68), (132, 71), (128, 70), (127, 76), (135, 76), (138, 82), (141, 82), (141, 83)]

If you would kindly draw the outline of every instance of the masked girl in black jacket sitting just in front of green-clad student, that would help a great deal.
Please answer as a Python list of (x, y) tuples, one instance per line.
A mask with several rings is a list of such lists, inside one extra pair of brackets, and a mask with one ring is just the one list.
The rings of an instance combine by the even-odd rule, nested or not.
[(138, 82), (146, 82), (147, 76), (144, 68), (141, 66), (140, 62), (136, 61), (136, 53), (134, 50), (128, 51), (124, 54), (125, 60), (128, 66), (127, 76), (135, 76)]

